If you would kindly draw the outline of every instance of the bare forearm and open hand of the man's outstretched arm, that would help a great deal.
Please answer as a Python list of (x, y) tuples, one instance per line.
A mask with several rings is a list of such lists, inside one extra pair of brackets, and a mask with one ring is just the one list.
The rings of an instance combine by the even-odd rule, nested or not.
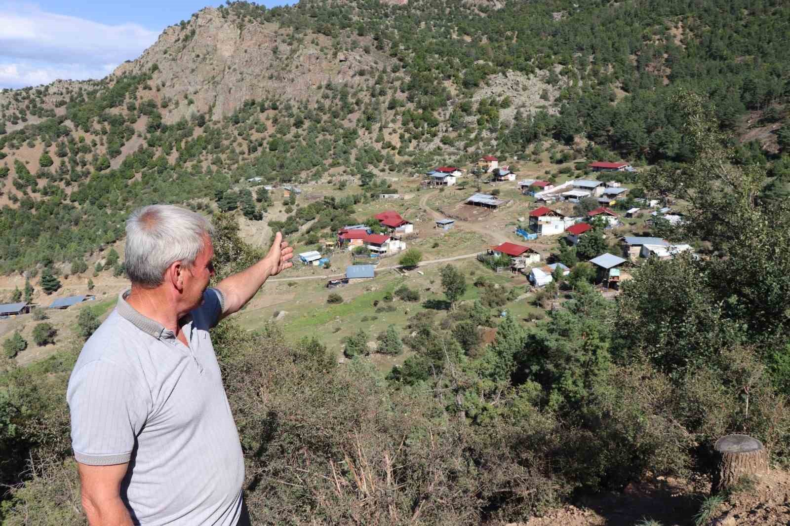
[(261, 261), (241, 272), (228, 276), (216, 285), (225, 298), (222, 317), (233, 314), (245, 306), (269, 276), (276, 276), (284, 269), (292, 267), (292, 257), (294, 257), (293, 247), (288, 246), (288, 242), (283, 241), (283, 235), (277, 232), (269, 254), (266, 254)]

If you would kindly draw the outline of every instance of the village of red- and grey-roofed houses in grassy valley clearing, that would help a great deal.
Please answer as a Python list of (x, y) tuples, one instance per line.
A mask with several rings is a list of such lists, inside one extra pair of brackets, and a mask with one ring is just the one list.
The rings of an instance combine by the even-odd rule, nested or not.
[[(586, 164), (581, 177), (571, 173), (565, 180), (557, 175), (547, 177), (551, 180), (520, 178), (509, 165), (500, 165), (489, 155), (468, 171), (441, 166), (422, 177), (399, 179), (399, 193), (383, 193), (357, 205), (355, 216), (370, 220), (344, 225), (318, 243), (293, 236), (294, 269), (270, 280), (235, 316), (250, 330), (274, 320), (288, 334), (320, 336), (340, 350), (356, 327), (374, 333), (390, 324), (405, 325), (417, 311), (441, 305), (438, 272), (447, 264), (456, 265), (475, 283), (462, 302), (484, 299), (496, 314), (511, 314), (526, 322), (544, 317), (547, 310), (561, 309), (573, 295), (576, 274), (611, 299), (645, 258), (694, 252), (690, 244), (653, 235), (656, 221), (677, 224), (683, 214), (678, 206), (670, 208), (641, 192), (634, 196), (634, 172), (628, 163), (595, 161)], [(262, 186), (256, 178), (246, 183)], [(265, 188), (281, 193), (284, 202), (310, 201), (332, 191), (315, 186)], [(246, 224), (246, 232), (254, 227)], [(591, 242), (592, 236), (600, 240)], [(260, 235), (257, 240), (254, 235), (249, 238), (265, 245)], [(598, 247), (600, 252), (563, 257), (580, 246)], [(122, 246), (117, 248), (122, 251)], [(412, 258), (414, 253), (419, 256), (404, 259), (410, 253)], [(76, 314), (61, 311), (76, 311), (70, 307), (100, 299), (92, 308), (96, 314), (107, 314), (123, 286), (122, 278), (109, 280), (91, 294), (85, 294), (84, 286), (66, 286), (49, 303), (39, 298), (0, 305), (0, 319), (11, 321), (3, 324), (8, 325), (5, 332), (12, 325), (24, 326), (34, 310), (47, 310), (57, 314), (55, 319), (62, 317), (64, 325), (73, 324)], [(394, 302), (378, 305), (402, 287), (419, 291), (412, 297), (423, 301), (404, 302), (402, 309)], [(547, 287), (551, 294), (545, 293)], [(327, 302), (333, 293), (335, 301), (341, 298), (339, 304)], [(22, 358), (52, 351), (41, 349)], [(403, 359), (377, 355), (373, 361), (384, 369)]]

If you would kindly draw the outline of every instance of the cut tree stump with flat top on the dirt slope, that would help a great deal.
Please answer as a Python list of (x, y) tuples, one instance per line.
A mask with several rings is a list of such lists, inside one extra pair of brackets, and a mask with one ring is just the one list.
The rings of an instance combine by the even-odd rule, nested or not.
[(713, 449), (718, 456), (713, 472), (713, 494), (732, 487), (743, 475), (759, 475), (768, 471), (768, 451), (757, 438), (728, 434), (719, 438)]

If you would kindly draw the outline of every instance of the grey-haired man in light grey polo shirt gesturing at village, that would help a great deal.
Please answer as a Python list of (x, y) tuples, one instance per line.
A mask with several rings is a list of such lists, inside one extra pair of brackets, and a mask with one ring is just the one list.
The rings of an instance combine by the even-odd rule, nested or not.
[(212, 234), (204, 217), (169, 205), (126, 221), (131, 288), (85, 343), (67, 393), (91, 526), (249, 524), (209, 329), (291, 267), (293, 249), (278, 232), (261, 261), (207, 288)]

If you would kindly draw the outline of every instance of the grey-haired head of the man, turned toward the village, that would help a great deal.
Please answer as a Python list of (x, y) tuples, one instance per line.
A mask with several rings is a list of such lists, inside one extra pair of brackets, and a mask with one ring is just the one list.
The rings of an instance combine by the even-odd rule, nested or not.
[(197, 306), (213, 275), (213, 233), (209, 221), (190, 210), (172, 205), (137, 209), (126, 220), (126, 274), (133, 285), (164, 285), (180, 303)]

